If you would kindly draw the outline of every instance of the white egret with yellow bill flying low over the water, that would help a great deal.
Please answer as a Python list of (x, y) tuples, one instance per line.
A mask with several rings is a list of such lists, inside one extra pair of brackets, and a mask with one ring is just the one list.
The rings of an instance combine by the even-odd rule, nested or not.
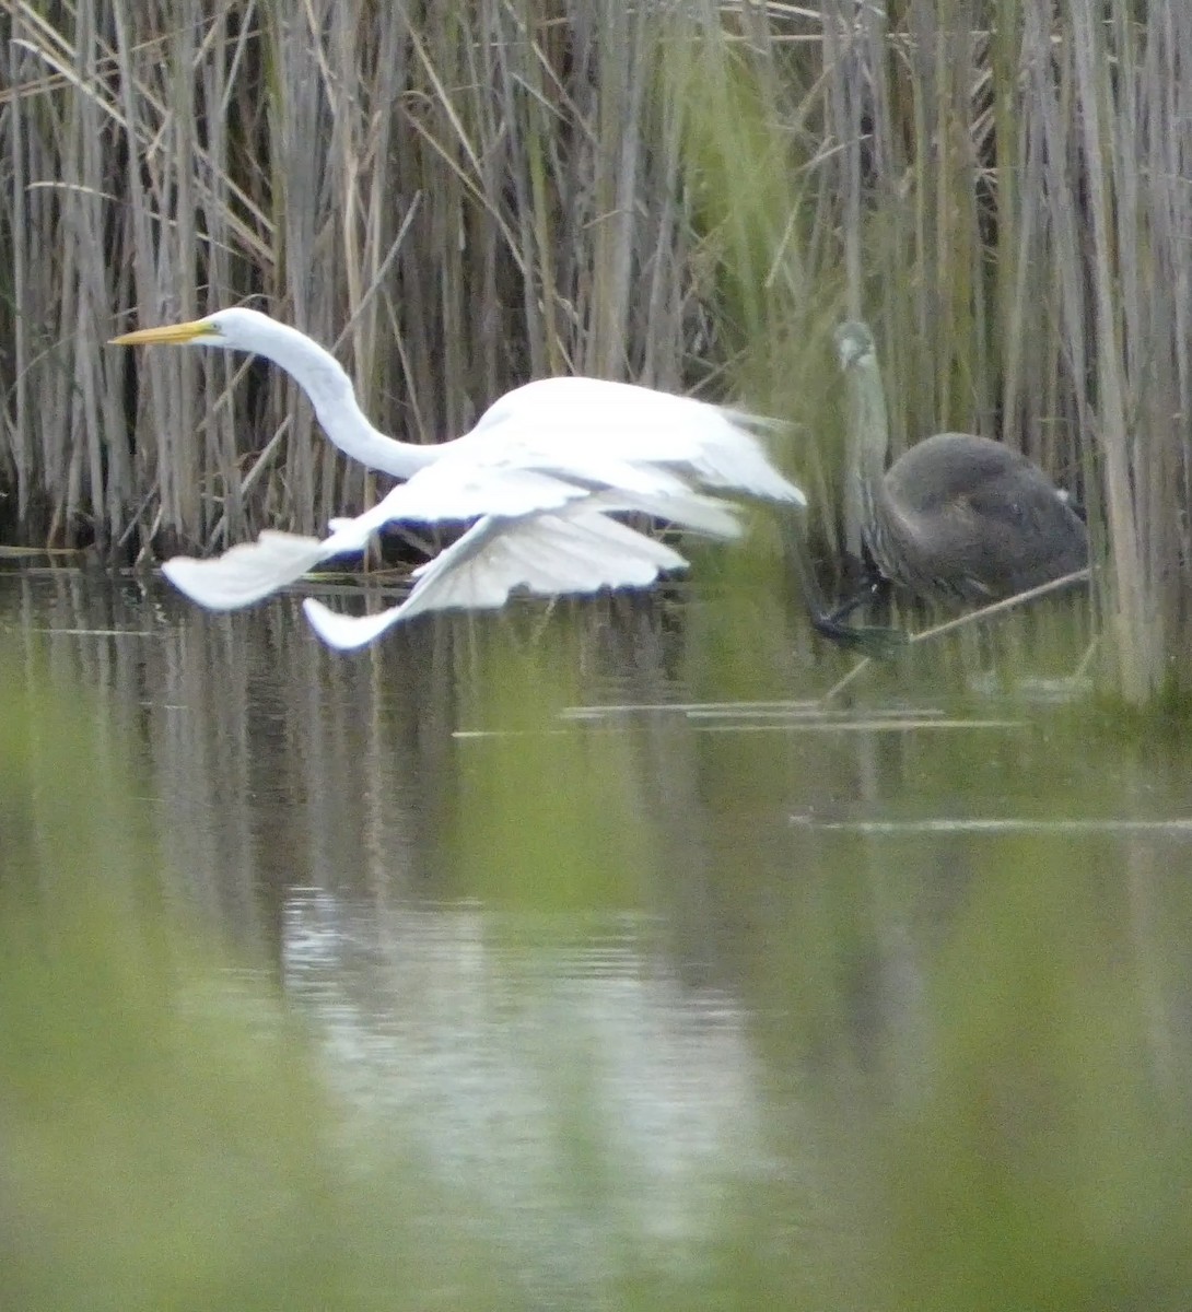
[(353, 621), (309, 602), (316, 630), (339, 647), (369, 642), (423, 610), (499, 606), (517, 586), (541, 594), (641, 586), (685, 564), (673, 548), (609, 520), (613, 513), (646, 513), (730, 539), (740, 526), (725, 493), (806, 506), (757, 440), (773, 421), (689, 396), (593, 378), (540, 379), (507, 392), (462, 437), (423, 446), (378, 432), (328, 352), (255, 310), (221, 310), (113, 338), (151, 344), (265, 356), (306, 392), (336, 446), (408, 479), (364, 514), (332, 521), (323, 539), (266, 531), (210, 560), (168, 560), (163, 572), (201, 605), (223, 610), (257, 601), (323, 560), (364, 550), (398, 520), (477, 521), (417, 571), (406, 602), (383, 615)]

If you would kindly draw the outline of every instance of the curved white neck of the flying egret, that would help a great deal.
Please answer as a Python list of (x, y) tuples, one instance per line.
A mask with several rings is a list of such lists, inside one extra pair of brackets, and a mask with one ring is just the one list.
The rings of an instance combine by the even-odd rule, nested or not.
[(287, 324), (270, 320), (253, 349), (284, 369), (306, 392), (323, 430), (353, 461), (408, 479), (442, 454), (441, 446), (399, 442), (373, 428), (339, 361)]

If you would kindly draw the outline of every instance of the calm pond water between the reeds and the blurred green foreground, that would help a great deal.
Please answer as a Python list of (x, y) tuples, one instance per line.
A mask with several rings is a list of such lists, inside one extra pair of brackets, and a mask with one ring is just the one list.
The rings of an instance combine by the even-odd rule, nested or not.
[(343, 657), (295, 597), (0, 573), (8, 649), (89, 690), (176, 897), (306, 1018), (362, 1152), (416, 1155), (575, 1299), (626, 1242), (691, 1271), (759, 1189), (769, 1241), (847, 1215), (849, 1127), (923, 1097), (948, 954), (1003, 921), (1019, 966), (1067, 935), (1115, 963), (1158, 1089), (1185, 1060), (1192, 765), (1040, 681), (1074, 640), (1036, 659), (1028, 623), (1021, 678), (950, 648), (823, 706), (852, 657), (761, 597), (742, 651), (715, 606), (448, 615)]

